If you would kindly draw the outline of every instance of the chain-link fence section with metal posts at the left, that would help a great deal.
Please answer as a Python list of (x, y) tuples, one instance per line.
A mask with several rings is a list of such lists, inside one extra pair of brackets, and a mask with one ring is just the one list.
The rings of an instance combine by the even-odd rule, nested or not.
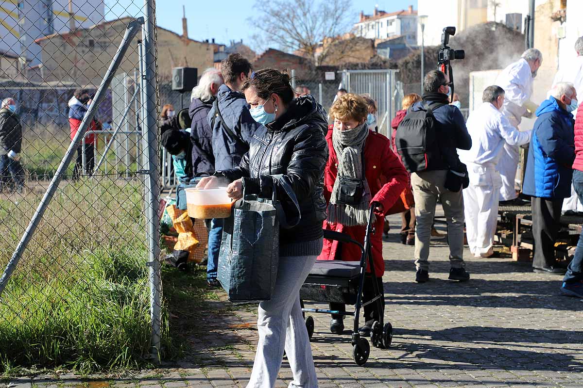
[(154, 0), (0, 6), (0, 373), (171, 351)]

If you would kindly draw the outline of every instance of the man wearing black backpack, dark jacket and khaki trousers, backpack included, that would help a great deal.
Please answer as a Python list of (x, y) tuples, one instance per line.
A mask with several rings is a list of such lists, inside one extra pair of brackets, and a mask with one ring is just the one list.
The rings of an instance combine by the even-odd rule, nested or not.
[(438, 70), (427, 73), (423, 85), (423, 101), (411, 106), (399, 124), (396, 147), (405, 168), (412, 173), (415, 197), (416, 282), (429, 280), (429, 245), (431, 224), (437, 198), (440, 198), (447, 218), (450, 280), (468, 280), (463, 262), (463, 197), (468, 186), (468, 172), (459, 161), (456, 148), (470, 149), (462, 113), (449, 105), (451, 92), (448, 76)]

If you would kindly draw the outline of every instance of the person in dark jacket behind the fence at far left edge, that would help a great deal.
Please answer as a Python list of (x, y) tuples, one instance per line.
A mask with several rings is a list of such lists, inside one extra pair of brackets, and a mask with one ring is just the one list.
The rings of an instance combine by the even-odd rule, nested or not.
[(18, 154), (22, 145), (22, 126), (16, 114), (16, 100), (8, 97), (2, 100), (0, 108), (0, 190), (10, 181), (16, 190), (24, 182), (24, 170)]

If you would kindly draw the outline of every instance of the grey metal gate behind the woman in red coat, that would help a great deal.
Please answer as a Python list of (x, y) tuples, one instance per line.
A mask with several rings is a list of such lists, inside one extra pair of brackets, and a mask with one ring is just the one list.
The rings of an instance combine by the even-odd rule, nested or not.
[(378, 131), (391, 138), (391, 120), (401, 109), (403, 95), (395, 69), (342, 70), (342, 86), (349, 93), (368, 93), (378, 104)]

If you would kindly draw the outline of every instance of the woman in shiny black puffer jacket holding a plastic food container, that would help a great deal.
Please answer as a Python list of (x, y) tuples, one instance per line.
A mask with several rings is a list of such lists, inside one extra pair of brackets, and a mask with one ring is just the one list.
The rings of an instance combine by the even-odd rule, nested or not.
[[(275, 294), (259, 304), (257, 357), (248, 387), (273, 387), (286, 350), (294, 380), (291, 387), (317, 387), (310, 341), (301, 314), (299, 291), (322, 250), (323, 195), (328, 146), (326, 115), (314, 97), (293, 98), (290, 77), (275, 69), (251, 74), (241, 90), (251, 116), (264, 124), (255, 132), (235, 169), (203, 178), (199, 187), (216, 187), (219, 177), (231, 182), (227, 193), (238, 200), (245, 194), (287, 198), (272, 175), (283, 175), (300, 205), (300, 223), (280, 229), (280, 258)], [(284, 210), (293, 209), (282, 199)], [(291, 214), (290, 214), (291, 215)]]

